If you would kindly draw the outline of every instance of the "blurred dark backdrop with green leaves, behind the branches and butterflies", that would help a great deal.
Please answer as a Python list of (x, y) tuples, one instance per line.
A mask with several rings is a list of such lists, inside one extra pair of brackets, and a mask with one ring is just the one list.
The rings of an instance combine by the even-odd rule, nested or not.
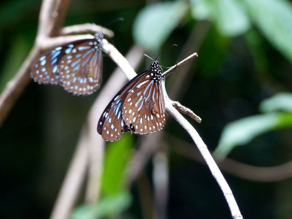
[[(32, 48), (40, 5), (37, 0), (0, 3), (1, 92)], [(224, 160), (228, 156), (253, 167), (291, 161), (291, 1), (73, 0), (65, 25), (104, 25), (118, 17), (124, 22), (110, 28), (115, 32), (112, 43), (122, 54), (137, 43), (156, 57), (163, 48), (177, 44), (159, 57), (164, 66), (194, 52), (199, 54), (185, 72), (187, 80), (182, 87), (173, 86), (181, 77), (180, 71), (167, 78), (166, 85), (170, 98), (202, 118), (201, 124), (187, 119), (209, 150), (215, 150), (214, 157)], [(149, 64), (145, 58), (138, 72)], [(115, 67), (112, 60), (104, 58), (103, 84)], [(172, 93), (175, 89), (177, 95)], [(49, 217), (79, 131), (98, 93), (75, 97), (61, 87), (31, 81), (0, 130), (1, 218)], [(163, 131), (183, 140), (181, 145), (192, 142), (169, 115)], [(135, 143), (139, 137), (125, 136), (108, 144), (100, 202), (92, 208), (77, 208), (72, 218), (111, 218), (113, 211), (120, 218), (145, 217), (139, 183), (134, 183), (130, 192), (119, 189), (131, 150), (139, 147)], [(180, 146), (166, 144), (168, 218), (231, 218), (208, 167), (173, 150), (173, 144)], [(250, 180), (245, 173), (238, 177), (223, 171), (245, 218), (291, 218), (291, 167), (284, 167), (281, 171), (287, 174), (280, 180), (272, 174), (267, 180)], [(150, 182), (152, 170), (149, 162), (145, 177)]]

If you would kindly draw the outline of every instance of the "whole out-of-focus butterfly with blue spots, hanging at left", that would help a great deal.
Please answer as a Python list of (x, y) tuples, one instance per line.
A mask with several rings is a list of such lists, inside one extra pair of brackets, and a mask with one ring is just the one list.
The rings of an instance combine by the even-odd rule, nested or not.
[(38, 84), (62, 86), (73, 95), (90, 95), (102, 81), (103, 34), (58, 46), (32, 65), (30, 76)]

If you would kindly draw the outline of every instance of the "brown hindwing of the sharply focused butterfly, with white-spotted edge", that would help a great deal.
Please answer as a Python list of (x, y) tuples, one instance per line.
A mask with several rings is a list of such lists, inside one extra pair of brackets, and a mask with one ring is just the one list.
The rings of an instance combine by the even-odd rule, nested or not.
[(139, 135), (159, 131), (166, 122), (161, 81), (152, 75), (149, 71), (132, 86), (123, 105), (125, 123)]

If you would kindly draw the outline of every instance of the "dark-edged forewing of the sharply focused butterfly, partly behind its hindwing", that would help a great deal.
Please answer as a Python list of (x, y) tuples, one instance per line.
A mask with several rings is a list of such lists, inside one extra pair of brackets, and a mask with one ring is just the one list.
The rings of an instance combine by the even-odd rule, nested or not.
[(122, 116), (124, 101), (128, 93), (132, 90), (131, 88), (133, 84), (135, 84), (135, 81), (139, 80), (139, 78), (143, 77), (147, 72), (148, 70), (138, 74), (121, 88), (103, 111), (97, 126), (97, 131), (102, 135), (103, 139), (107, 141), (116, 141), (123, 138), (123, 132), (130, 131)]

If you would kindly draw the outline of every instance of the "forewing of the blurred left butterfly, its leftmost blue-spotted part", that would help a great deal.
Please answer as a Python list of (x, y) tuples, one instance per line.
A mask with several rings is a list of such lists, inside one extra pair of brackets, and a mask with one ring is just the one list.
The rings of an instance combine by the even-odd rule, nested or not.
[(66, 46), (59, 46), (39, 58), (30, 72), (32, 79), (39, 84), (60, 84), (58, 63)]

